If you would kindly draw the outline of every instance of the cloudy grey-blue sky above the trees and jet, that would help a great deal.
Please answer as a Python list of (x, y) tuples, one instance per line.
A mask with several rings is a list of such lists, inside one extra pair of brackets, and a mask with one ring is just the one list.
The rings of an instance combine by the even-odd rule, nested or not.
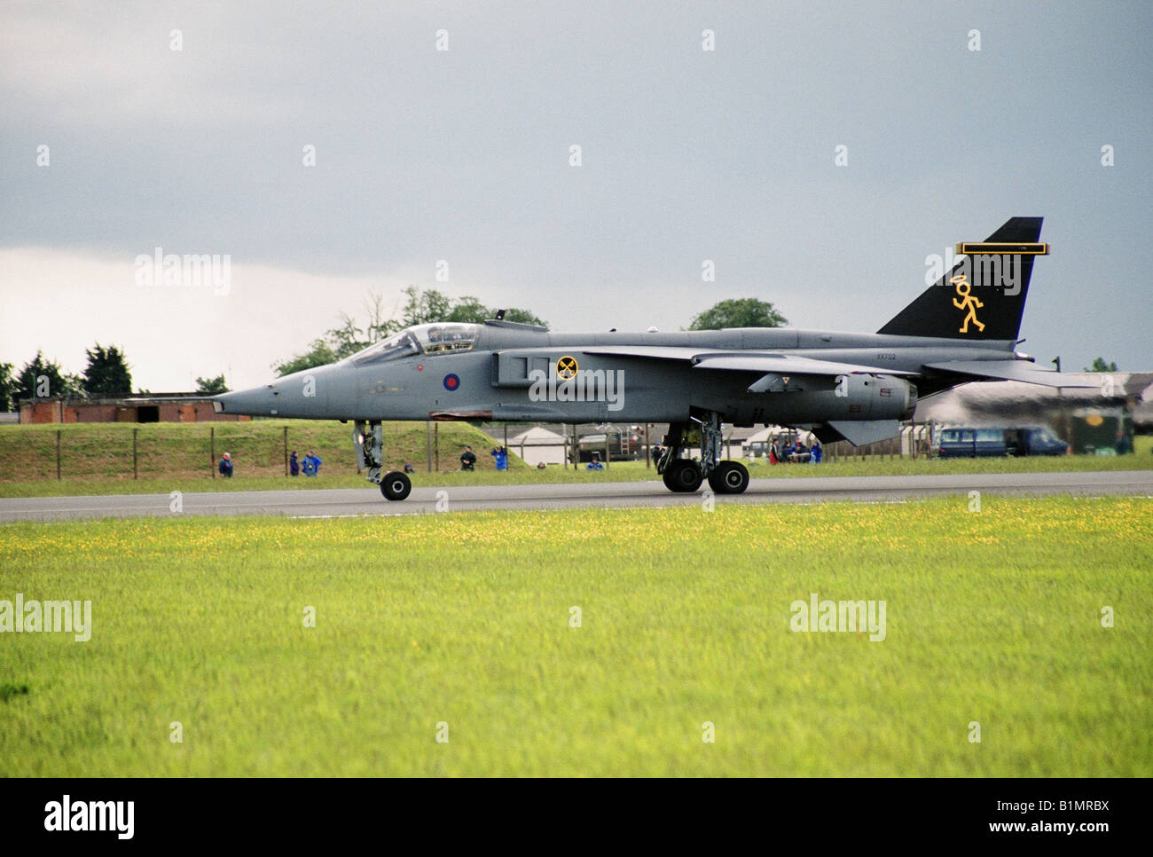
[(553, 330), (759, 298), (875, 331), (927, 256), (1043, 216), (1020, 349), (1153, 370), (1150, 32), (1147, 2), (2, 2), (0, 362), (253, 386), (409, 285)]

